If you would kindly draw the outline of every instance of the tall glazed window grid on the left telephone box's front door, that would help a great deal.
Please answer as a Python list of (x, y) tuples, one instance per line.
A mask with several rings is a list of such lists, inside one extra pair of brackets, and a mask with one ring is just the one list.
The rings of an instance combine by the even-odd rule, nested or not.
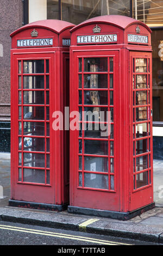
[[(21, 124), (19, 125), (21, 129), (19, 134), (21, 135), (18, 136), (18, 182), (48, 186), (50, 175), (49, 128), (47, 134), (47, 125), (49, 124), (49, 59), (21, 60), (18, 64), (18, 108), (20, 113), (18, 121)], [(21, 88), (19, 77), (21, 77)], [(43, 97), (41, 94), (39, 96), (39, 93), (42, 93)], [(39, 101), (37, 101), (37, 97)], [(40, 97), (42, 97), (42, 103)], [(41, 112), (43, 116), (40, 115)]]

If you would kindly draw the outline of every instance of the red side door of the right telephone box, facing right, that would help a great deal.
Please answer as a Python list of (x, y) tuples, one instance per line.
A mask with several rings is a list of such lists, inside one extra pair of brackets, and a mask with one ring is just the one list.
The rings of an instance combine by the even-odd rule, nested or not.
[(130, 211), (153, 203), (152, 53), (130, 52)]

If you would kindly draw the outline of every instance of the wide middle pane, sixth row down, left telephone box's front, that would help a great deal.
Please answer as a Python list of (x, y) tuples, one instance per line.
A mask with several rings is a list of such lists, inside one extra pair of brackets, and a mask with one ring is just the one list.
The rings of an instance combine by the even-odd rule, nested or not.
[(44, 138), (24, 138), (24, 150), (45, 151)]

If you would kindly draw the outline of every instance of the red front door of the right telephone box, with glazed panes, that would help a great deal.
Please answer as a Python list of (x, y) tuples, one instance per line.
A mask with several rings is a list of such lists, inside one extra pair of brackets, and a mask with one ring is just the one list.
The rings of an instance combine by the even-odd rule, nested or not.
[[(72, 58), (70, 206), (120, 211), (119, 52), (80, 51)], [(72, 131), (72, 111), (80, 113), (79, 131)]]

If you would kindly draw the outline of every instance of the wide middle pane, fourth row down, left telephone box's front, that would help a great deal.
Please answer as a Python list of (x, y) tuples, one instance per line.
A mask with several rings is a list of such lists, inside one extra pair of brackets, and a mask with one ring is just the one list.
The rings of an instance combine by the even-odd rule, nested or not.
[(26, 106), (23, 107), (24, 119), (44, 120), (45, 119), (44, 107)]

